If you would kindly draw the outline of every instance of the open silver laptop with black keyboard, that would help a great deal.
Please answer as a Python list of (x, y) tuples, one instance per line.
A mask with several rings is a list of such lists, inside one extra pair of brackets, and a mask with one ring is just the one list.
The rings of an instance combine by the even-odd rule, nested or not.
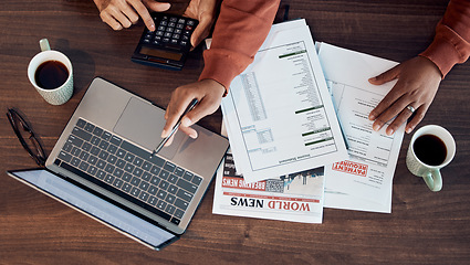
[(160, 142), (165, 110), (103, 78), (93, 80), (44, 169), (13, 178), (155, 248), (186, 231), (227, 149), (227, 138)]

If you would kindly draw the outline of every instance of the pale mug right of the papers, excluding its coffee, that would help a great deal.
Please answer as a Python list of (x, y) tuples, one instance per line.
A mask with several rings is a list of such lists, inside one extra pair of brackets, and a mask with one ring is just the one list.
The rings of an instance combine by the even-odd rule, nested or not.
[[(428, 165), (418, 158), (416, 155), (417, 150), (415, 150), (416, 140), (425, 135), (431, 135), (438, 137), (443, 145), (446, 146), (446, 155), (439, 165)], [(440, 174), (440, 169), (449, 165), (449, 162), (453, 159), (456, 155), (456, 141), (453, 140), (452, 135), (450, 132), (437, 125), (427, 125), (419, 128), (411, 137), (411, 141), (409, 142), (408, 152), (406, 156), (406, 166), (409, 171), (417, 176), (421, 177), (426, 184), (429, 187), (431, 191), (440, 191), (442, 189), (442, 177)]]

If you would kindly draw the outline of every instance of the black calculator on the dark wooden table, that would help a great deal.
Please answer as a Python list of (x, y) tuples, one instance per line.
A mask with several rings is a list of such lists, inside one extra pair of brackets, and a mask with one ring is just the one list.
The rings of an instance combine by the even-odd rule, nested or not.
[(144, 29), (132, 61), (168, 70), (181, 70), (191, 49), (198, 21), (167, 13), (152, 13), (155, 31)]

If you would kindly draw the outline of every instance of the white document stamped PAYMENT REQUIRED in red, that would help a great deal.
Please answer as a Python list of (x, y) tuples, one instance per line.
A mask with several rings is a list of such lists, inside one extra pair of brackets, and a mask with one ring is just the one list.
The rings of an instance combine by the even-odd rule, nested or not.
[(325, 166), (325, 206), (389, 213), (405, 125), (391, 136), (385, 134), (388, 124), (379, 131), (372, 129), (368, 114), (395, 82), (374, 86), (367, 80), (397, 63), (326, 43), (317, 46), (349, 153)]

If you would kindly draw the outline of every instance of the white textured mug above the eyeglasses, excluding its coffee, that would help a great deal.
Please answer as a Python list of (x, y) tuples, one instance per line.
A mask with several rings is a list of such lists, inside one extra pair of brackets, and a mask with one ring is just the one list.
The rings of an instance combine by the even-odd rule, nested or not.
[[(39, 94), (52, 105), (62, 105), (66, 103), (73, 95), (73, 70), (72, 63), (69, 57), (63, 53), (58, 51), (52, 51), (49, 46), (49, 42), (46, 39), (42, 39), (40, 41), (41, 52), (38, 53), (28, 65), (28, 78), (34, 88), (39, 92)], [(35, 72), (38, 67), (48, 61), (58, 61), (61, 62), (69, 71), (69, 76), (66, 81), (59, 87), (46, 89), (38, 85), (35, 80)]]

